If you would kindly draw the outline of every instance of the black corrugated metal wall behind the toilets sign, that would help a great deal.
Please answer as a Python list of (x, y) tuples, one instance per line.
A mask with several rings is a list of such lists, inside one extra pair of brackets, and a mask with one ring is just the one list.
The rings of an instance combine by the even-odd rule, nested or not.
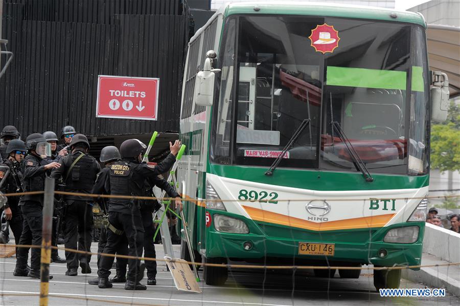
[[(0, 80), (0, 125), (24, 136), (66, 124), (89, 136), (178, 130), (182, 1), (6, 0), (3, 27), (15, 58)], [(98, 74), (160, 78), (158, 121), (96, 118)]]

